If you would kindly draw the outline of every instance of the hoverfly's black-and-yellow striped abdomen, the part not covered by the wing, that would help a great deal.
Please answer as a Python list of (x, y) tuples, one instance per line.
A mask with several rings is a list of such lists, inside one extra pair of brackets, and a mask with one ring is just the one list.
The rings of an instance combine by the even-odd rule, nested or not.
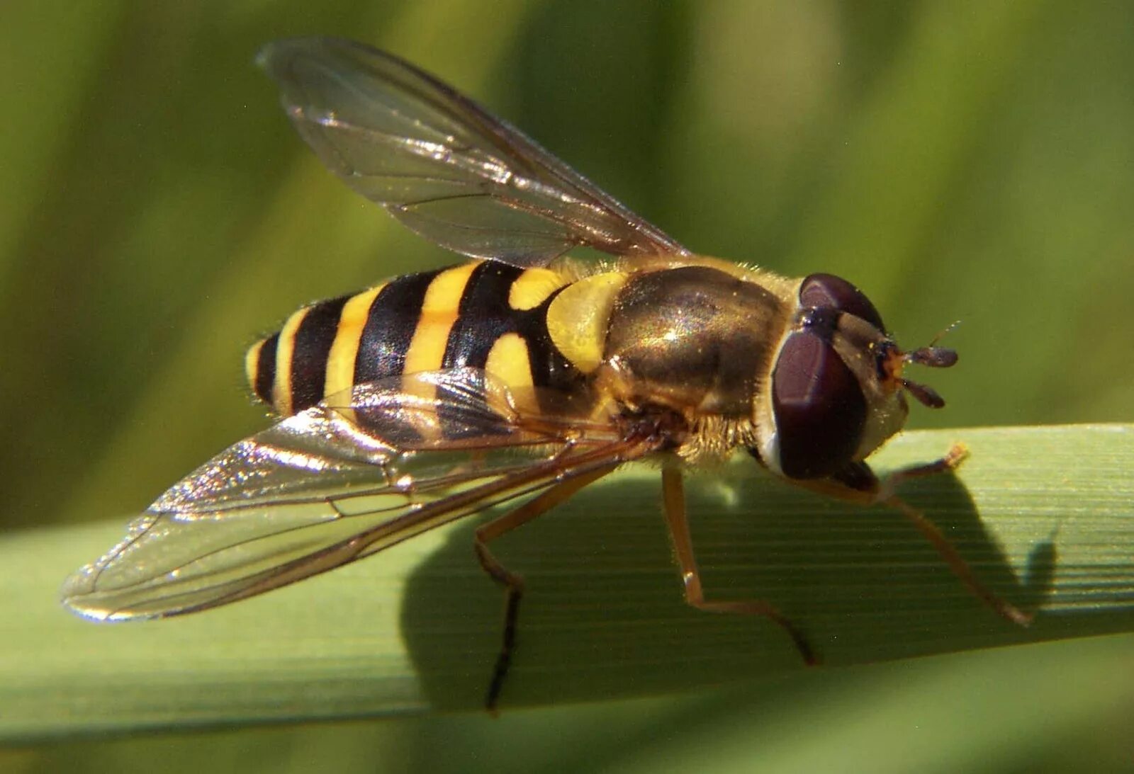
[(293, 314), (248, 350), (248, 382), (281, 415), (355, 384), (463, 366), (510, 385), (572, 390), (583, 374), (548, 333), (548, 308), (569, 282), (499, 262), (406, 274)]

